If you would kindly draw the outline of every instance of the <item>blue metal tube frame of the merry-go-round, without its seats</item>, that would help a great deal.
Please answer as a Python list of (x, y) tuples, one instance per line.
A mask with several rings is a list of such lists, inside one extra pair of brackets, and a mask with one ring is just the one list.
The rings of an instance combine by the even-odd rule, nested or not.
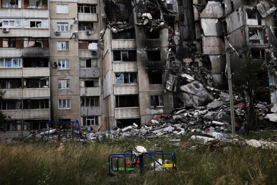
[[(126, 153), (126, 152), (132, 152), (133, 150), (125, 150), (123, 153), (112, 153), (109, 155), (108, 157), (108, 162), (109, 162), (109, 176), (111, 176), (111, 169), (112, 171), (119, 171), (119, 167), (118, 167), (118, 159), (119, 158), (123, 158), (124, 160), (124, 171), (126, 171), (126, 169), (129, 169), (130, 166), (132, 165), (132, 162), (135, 160), (135, 158), (137, 157), (135, 154), (133, 153)], [(159, 153), (161, 152), (161, 153)], [(162, 164), (160, 164), (160, 162), (158, 162), (152, 155), (162, 155)], [(147, 153), (143, 153), (142, 155), (139, 156), (139, 170), (140, 173), (143, 173), (144, 170), (144, 162), (143, 162), (143, 157), (149, 157), (153, 159), (153, 164), (154, 164), (154, 174), (156, 176), (156, 164), (155, 161), (159, 164), (159, 165), (163, 165), (164, 164), (164, 155), (171, 155), (172, 156), (172, 169), (175, 171), (177, 171), (177, 166), (176, 166), (176, 155), (175, 152), (173, 153), (163, 153), (162, 150), (158, 150), (158, 151), (150, 151)], [(132, 161), (130, 163), (130, 165), (128, 166), (128, 168), (126, 168), (126, 157), (129, 156), (134, 156), (134, 158), (132, 158)], [(111, 159), (110, 159), (111, 158)], [(117, 158), (116, 162), (117, 162), (117, 167), (115, 168), (116, 170), (113, 169), (113, 158)], [(137, 160), (136, 160), (137, 161)], [(136, 164), (136, 162), (135, 162)], [(163, 169), (164, 170), (164, 169)]]

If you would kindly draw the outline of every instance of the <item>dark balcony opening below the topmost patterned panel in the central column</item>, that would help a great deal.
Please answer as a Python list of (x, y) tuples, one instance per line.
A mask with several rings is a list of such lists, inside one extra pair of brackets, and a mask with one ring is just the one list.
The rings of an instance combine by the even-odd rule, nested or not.
[(113, 50), (113, 61), (136, 61), (136, 50)]

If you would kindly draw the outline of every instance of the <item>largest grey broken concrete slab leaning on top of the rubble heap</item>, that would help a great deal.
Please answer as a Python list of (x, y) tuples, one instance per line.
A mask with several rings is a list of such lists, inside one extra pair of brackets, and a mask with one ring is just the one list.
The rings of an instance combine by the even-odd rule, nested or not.
[(184, 106), (199, 106), (201, 103), (214, 100), (212, 95), (198, 81), (192, 81), (189, 84), (180, 87), (179, 98)]

